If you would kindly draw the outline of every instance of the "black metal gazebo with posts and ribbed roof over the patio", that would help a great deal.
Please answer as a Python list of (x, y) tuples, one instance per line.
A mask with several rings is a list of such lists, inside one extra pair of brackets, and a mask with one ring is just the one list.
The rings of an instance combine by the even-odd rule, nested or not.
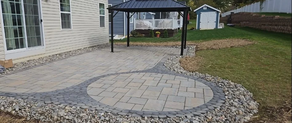
[[(129, 0), (118, 5), (107, 8), (111, 13), (111, 52), (113, 52), (113, 17), (118, 12), (126, 12), (127, 16), (127, 46), (130, 45), (130, 18), (136, 12), (178, 12), (183, 17), (183, 28), (181, 36), (180, 55), (183, 55), (183, 49), (186, 49), (187, 43), (187, 13), (191, 7), (174, 0)], [(114, 14), (114, 11), (116, 13)], [(130, 16), (132, 12), (132, 16)], [(183, 13), (181, 13), (183, 12)]]

